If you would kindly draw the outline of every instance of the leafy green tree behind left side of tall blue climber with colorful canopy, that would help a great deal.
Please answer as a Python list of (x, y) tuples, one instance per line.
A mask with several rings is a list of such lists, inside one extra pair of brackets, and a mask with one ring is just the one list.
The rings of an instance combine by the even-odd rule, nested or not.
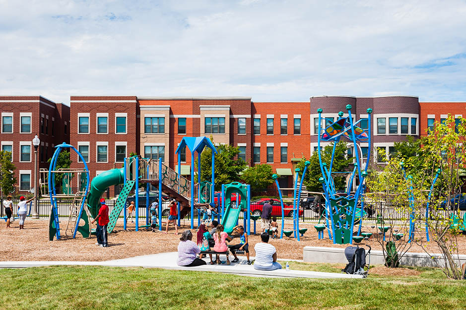
[[(352, 164), (353, 158), (346, 158), (347, 154), (347, 145), (344, 141), (339, 141), (335, 146), (335, 156), (333, 158), (333, 168), (332, 171), (348, 171), (349, 165)], [(322, 162), (327, 163), (330, 166), (332, 160), (332, 150), (333, 143), (324, 147), (322, 155)], [(307, 161), (306, 158), (302, 158), (301, 161), (296, 165), (296, 168), (299, 168), (299, 176), (301, 177), (304, 171), (304, 163)], [(321, 166), (319, 164), (319, 155), (314, 152), (309, 158), (311, 163), (307, 169), (306, 176), (304, 177), (304, 186), (309, 191), (323, 191), (322, 184), (319, 182), (319, 178), (322, 177)], [(344, 176), (336, 175), (333, 177), (336, 189), (345, 189), (346, 179)]]

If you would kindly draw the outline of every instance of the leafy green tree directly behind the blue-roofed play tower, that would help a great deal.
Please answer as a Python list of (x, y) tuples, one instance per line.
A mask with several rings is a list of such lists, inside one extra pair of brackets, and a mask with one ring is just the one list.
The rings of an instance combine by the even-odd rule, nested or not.
[[(215, 145), (218, 154), (215, 155), (215, 190), (220, 190), (222, 184), (227, 184), (241, 179), (240, 173), (246, 168), (246, 162), (238, 158), (239, 147), (228, 144)], [(200, 177), (202, 181), (212, 179), (212, 150), (204, 149), (200, 154)], [(195, 161), (198, 167), (198, 161)], [(197, 180), (197, 173), (195, 174)], [(194, 181), (194, 180), (192, 180)]]

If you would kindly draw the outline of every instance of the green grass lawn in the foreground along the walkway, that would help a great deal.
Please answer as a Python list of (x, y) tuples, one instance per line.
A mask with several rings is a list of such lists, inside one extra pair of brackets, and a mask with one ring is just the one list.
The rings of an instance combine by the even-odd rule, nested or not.
[[(339, 272), (339, 265), (290, 262)], [(319, 267), (320, 266), (320, 267)], [(465, 309), (466, 281), (433, 269), (368, 279), (253, 278), (215, 272), (58, 266), (0, 269), (0, 309)]]

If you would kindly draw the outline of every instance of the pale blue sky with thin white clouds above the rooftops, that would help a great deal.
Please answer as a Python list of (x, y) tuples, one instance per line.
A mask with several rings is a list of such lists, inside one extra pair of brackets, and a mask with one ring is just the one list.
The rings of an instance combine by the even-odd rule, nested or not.
[(466, 1), (0, 0), (0, 95), (466, 101)]

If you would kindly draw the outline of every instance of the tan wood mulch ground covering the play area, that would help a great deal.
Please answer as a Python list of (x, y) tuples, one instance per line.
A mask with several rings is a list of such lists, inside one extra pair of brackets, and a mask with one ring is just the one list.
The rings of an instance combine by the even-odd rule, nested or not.
[[(177, 251), (180, 236), (174, 235), (174, 228), (170, 226), (170, 234), (164, 234), (157, 231), (152, 233), (141, 229), (136, 232), (134, 223), (128, 223), (128, 230), (123, 230), (123, 221), (119, 221), (116, 231), (109, 235), (109, 247), (100, 248), (95, 245), (97, 242), (95, 236), (90, 239), (78, 237), (76, 239), (63, 238), (59, 241), (48, 241), (47, 239), (46, 220), (26, 219), (25, 229), (18, 229), (18, 221), (12, 224), (13, 228), (6, 228), (4, 222), (0, 223), (0, 260), (1, 261), (19, 261), (19, 260), (82, 260), (82, 261), (103, 261), (110, 259), (119, 259), (133, 257), (137, 255), (154, 254), (160, 252)], [(62, 220), (62, 225), (66, 225), (66, 220)], [(140, 224), (144, 223), (140, 221)], [(280, 223), (279, 223), (280, 224)], [(252, 225), (251, 225), (252, 226)], [(289, 229), (291, 223), (287, 224), (285, 229)], [(336, 247), (346, 248), (347, 245), (334, 245), (328, 238), (318, 240), (317, 232), (312, 224), (300, 224), (300, 228), (308, 228), (301, 241), (297, 242), (294, 238), (283, 237), (283, 239), (271, 239), (270, 244), (277, 248), (278, 258), (302, 259), (303, 248), (305, 246), (315, 247)], [(179, 233), (189, 229), (189, 221), (185, 221), (179, 228)], [(259, 229), (259, 225), (258, 225)], [(363, 231), (371, 232), (371, 227), (365, 227)], [(375, 233), (375, 231), (373, 231)], [(196, 241), (196, 230), (193, 230), (193, 241)], [(376, 236), (376, 234), (374, 234)], [(327, 232), (326, 232), (327, 237)], [(249, 237), (249, 248), (251, 256), (255, 255), (254, 245), (260, 242), (260, 235)], [(400, 241), (401, 243), (403, 241)], [(233, 240), (232, 244), (237, 241)], [(381, 249), (379, 242), (375, 238), (363, 241), (364, 244), (370, 245), (373, 249)], [(466, 254), (466, 236), (458, 237), (460, 253)], [(438, 253), (439, 250), (434, 243), (426, 245), (430, 253)], [(413, 245), (410, 252), (423, 252), (418, 245)]]

